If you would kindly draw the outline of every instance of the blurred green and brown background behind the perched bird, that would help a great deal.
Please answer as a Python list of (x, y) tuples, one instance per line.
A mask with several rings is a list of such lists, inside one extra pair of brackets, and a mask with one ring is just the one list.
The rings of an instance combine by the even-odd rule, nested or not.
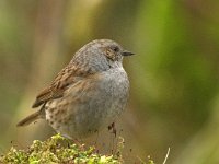
[[(0, 152), (54, 131), (15, 124), (84, 44), (111, 38), (131, 91), (118, 126), (127, 163), (219, 163), (218, 0), (1, 0)], [(131, 149), (131, 151), (130, 151)]]

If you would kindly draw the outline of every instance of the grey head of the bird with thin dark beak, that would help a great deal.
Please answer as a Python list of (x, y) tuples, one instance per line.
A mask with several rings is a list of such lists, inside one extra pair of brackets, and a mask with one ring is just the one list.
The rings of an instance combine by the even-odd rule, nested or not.
[(92, 69), (92, 72), (123, 67), (123, 57), (134, 55), (111, 39), (95, 39), (79, 49), (70, 63)]

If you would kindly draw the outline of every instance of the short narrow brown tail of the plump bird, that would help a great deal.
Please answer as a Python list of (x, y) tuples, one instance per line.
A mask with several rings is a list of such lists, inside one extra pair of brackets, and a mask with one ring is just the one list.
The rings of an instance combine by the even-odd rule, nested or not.
[(28, 126), (33, 121), (39, 119), (39, 118), (45, 118), (45, 112), (39, 109), (36, 113), (31, 114), (30, 116), (25, 117), (21, 121), (18, 122), (16, 127), (23, 127), (23, 126)]

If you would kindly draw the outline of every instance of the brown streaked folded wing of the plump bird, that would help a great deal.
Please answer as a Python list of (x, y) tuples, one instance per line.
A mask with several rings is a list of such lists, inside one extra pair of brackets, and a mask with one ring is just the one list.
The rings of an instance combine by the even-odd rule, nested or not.
[(64, 68), (58, 75), (55, 78), (50, 86), (43, 90), (37, 96), (36, 101), (33, 104), (33, 108), (45, 104), (46, 102), (60, 98), (64, 95), (64, 92), (70, 84), (78, 82), (83, 79), (89, 72), (79, 69), (72, 65), (68, 65)]

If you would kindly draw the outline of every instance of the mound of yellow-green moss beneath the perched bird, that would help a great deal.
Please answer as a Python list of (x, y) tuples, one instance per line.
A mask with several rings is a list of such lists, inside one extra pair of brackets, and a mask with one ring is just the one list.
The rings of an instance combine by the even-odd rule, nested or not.
[(95, 152), (93, 147), (85, 148), (56, 134), (47, 141), (35, 140), (26, 150), (11, 148), (9, 152), (0, 157), (3, 164), (119, 164), (122, 156), (102, 155)]

